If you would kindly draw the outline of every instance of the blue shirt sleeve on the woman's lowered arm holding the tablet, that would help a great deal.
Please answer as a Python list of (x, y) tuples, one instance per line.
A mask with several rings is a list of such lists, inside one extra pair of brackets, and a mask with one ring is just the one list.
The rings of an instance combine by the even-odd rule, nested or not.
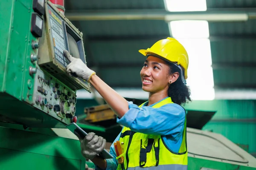
[[(121, 131), (122, 132), (122, 131)], [(114, 142), (111, 144), (110, 147), (110, 154), (114, 157), (113, 159), (106, 159), (107, 161), (107, 168), (106, 170), (116, 170), (117, 166), (118, 166), (118, 161), (116, 159), (116, 151), (114, 148), (114, 143), (119, 140), (121, 132), (119, 133), (119, 135), (116, 137), (116, 139), (114, 140)], [(95, 166), (95, 170), (101, 170), (99, 167)]]

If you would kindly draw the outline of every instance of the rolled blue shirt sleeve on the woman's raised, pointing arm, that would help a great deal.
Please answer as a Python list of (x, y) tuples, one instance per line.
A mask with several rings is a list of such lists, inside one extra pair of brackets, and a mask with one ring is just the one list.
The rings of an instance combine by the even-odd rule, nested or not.
[(117, 118), (121, 125), (129, 127), (135, 132), (152, 135), (177, 135), (183, 132), (185, 122), (185, 110), (175, 103), (163, 105), (160, 108), (129, 103), (129, 110)]

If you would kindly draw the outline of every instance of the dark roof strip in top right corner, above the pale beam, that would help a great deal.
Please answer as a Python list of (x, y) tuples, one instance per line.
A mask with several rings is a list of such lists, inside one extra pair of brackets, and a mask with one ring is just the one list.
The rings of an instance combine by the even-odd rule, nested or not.
[(253, 8), (255, 0), (207, 0), (207, 8)]

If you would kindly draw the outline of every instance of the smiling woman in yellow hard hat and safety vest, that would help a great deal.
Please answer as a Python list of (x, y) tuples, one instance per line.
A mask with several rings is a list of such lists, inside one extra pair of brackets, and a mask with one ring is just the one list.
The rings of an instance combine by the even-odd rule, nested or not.
[[(186, 170), (186, 112), (180, 105), (191, 100), (185, 81), (188, 54), (170, 37), (139, 52), (147, 57), (140, 76), (143, 91), (149, 97), (148, 102), (138, 107), (117, 94), (81, 59), (64, 51), (71, 61), (67, 73), (90, 82), (116, 113), (117, 122), (124, 126), (114, 141), (124, 143), (123, 164), (118, 164), (118, 158), (105, 160), (97, 156), (105, 147), (105, 139), (94, 133), (80, 140), (82, 154), (102, 170)], [(113, 144), (110, 153), (116, 158)]]

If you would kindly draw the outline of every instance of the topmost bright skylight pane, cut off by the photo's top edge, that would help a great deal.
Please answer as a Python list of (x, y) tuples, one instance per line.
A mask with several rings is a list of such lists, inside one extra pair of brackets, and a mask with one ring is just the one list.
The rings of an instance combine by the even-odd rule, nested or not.
[(206, 11), (206, 0), (165, 0), (168, 11)]

